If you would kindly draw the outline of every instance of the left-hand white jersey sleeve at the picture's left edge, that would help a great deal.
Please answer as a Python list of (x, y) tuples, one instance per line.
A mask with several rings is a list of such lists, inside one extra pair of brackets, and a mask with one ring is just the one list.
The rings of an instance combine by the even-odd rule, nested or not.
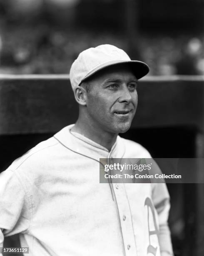
[(30, 223), (29, 195), (19, 177), (7, 169), (0, 174), (0, 247), (5, 236), (27, 230)]

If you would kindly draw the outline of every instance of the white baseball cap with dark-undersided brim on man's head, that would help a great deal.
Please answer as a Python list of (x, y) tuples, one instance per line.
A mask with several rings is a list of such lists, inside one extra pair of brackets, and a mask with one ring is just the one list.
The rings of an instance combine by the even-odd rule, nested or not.
[(70, 69), (70, 82), (74, 90), (85, 79), (97, 71), (115, 64), (129, 63), (137, 79), (149, 72), (149, 67), (142, 61), (133, 61), (126, 52), (116, 46), (103, 44), (82, 51)]

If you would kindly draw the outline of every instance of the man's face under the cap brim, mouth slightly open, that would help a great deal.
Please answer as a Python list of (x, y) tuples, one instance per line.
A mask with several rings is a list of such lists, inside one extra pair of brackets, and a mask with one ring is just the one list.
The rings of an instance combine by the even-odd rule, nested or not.
[(124, 133), (137, 109), (137, 79), (125, 65), (109, 67), (90, 80), (88, 122), (109, 133)]

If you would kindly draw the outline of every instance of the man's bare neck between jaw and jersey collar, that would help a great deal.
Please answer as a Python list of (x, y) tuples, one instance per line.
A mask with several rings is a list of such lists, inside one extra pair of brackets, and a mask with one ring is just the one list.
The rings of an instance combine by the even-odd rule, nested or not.
[(92, 127), (90, 124), (81, 123), (80, 120), (77, 120), (71, 131), (80, 133), (90, 140), (95, 141), (104, 148), (107, 148), (108, 151), (111, 150), (117, 138), (117, 134), (105, 133), (104, 131), (102, 132), (100, 129)]

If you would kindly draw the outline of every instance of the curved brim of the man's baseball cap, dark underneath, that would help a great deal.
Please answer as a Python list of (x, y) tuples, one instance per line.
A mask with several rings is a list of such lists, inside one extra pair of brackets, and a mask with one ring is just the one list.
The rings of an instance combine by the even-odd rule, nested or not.
[(113, 61), (107, 61), (103, 64), (100, 64), (99, 66), (95, 67), (95, 69), (92, 69), (91, 72), (89, 72), (83, 79), (81, 82), (83, 82), (85, 79), (87, 79), (88, 77), (91, 77), (93, 74), (97, 73), (98, 71), (113, 66), (113, 65), (117, 65), (117, 64), (129, 64), (129, 66), (132, 69), (132, 72), (134, 73), (135, 77), (137, 79), (140, 79), (142, 77), (144, 77), (146, 74), (148, 74), (149, 72), (149, 66), (142, 62), (142, 61), (125, 61), (125, 60), (113, 60)]

